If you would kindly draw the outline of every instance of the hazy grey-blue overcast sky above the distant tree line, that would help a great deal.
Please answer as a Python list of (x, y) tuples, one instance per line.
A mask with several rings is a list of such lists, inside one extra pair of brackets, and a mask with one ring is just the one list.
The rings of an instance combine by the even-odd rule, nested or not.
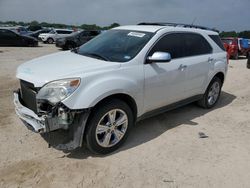
[(0, 0), (0, 21), (121, 25), (177, 22), (250, 30), (250, 0)]

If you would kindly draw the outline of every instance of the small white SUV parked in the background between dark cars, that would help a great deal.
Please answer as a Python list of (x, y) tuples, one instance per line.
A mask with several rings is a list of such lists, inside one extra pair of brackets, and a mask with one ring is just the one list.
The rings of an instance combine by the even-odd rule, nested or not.
[(71, 33), (73, 33), (73, 30), (69, 29), (53, 29), (49, 33), (42, 33), (38, 36), (38, 39), (43, 41), (44, 43), (52, 44), (56, 41), (58, 38), (67, 37)]

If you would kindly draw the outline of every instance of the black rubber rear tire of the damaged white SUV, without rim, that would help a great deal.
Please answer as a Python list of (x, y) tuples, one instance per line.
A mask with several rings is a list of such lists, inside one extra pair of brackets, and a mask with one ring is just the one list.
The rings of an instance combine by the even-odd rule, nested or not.
[[(214, 100), (213, 103), (211, 104), (211, 103), (209, 103), (209, 99), (210, 99), (209, 92), (212, 90), (212, 86), (215, 83), (219, 84), (219, 92), (218, 92), (218, 96), (217, 96), (216, 100)], [(205, 109), (209, 109), (209, 108), (214, 107), (220, 98), (221, 87), (222, 87), (221, 79), (218, 77), (214, 77), (212, 79), (212, 81), (210, 82), (210, 84), (208, 85), (207, 90), (206, 90), (205, 94), (203, 95), (202, 99), (198, 101), (198, 105), (201, 106), (202, 108), (205, 108)]]

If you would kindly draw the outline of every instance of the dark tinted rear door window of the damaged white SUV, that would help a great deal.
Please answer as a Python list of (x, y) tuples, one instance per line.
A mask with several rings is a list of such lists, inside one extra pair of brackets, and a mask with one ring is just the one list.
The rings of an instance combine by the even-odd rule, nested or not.
[(185, 56), (195, 56), (212, 53), (212, 47), (207, 40), (195, 33), (183, 33)]

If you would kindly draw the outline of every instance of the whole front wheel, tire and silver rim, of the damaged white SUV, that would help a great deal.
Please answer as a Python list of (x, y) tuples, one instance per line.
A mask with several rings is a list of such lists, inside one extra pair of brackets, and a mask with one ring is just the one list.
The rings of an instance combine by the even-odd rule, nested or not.
[(97, 107), (88, 122), (87, 147), (99, 154), (115, 151), (125, 141), (134, 123), (130, 107), (113, 99)]

